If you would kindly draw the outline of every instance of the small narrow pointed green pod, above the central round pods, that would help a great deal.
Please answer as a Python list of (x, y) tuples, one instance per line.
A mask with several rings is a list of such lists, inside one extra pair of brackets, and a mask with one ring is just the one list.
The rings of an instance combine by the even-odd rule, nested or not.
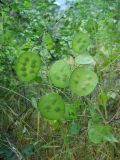
[(43, 37), (43, 42), (48, 49), (52, 49), (54, 43), (49, 33), (46, 33)]

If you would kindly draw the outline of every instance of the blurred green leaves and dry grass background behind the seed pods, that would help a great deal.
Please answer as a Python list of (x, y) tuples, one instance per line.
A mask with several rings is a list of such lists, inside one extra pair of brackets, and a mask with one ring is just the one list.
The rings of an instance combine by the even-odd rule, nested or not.
[[(0, 160), (120, 160), (120, 1), (66, 3), (60, 9), (54, 0), (0, 0)], [(91, 19), (97, 27), (91, 28)], [(68, 89), (49, 83), (47, 69), (62, 58), (74, 63), (71, 43), (81, 30), (91, 37), (88, 52), (99, 84), (76, 100)], [(46, 33), (53, 48), (44, 44)], [(32, 83), (16, 75), (21, 50), (42, 57), (42, 71)], [(72, 120), (49, 121), (37, 111), (38, 100), (51, 87), (78, 104)], [(99, 117), (112, 133), (102, 131), (104, 140), (93, 143), (100, 135), (94, 128), (90, 140), (88, 122)]]

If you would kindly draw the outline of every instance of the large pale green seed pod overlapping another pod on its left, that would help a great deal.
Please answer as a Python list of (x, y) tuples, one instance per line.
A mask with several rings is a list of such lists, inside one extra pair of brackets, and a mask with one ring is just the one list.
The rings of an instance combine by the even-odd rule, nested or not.
[(70, 89), (78, 96), (90, 94), (98, 83), (96, 73), (87, 67), (76, 68), (70, 77)]

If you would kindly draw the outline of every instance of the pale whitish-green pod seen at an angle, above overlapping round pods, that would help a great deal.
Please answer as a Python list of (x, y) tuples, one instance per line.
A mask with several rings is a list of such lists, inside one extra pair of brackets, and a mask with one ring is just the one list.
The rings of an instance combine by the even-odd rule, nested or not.
[(75, 58), (76, 64), (94, 64), (94, 59), (89, 54), (81, 54)]

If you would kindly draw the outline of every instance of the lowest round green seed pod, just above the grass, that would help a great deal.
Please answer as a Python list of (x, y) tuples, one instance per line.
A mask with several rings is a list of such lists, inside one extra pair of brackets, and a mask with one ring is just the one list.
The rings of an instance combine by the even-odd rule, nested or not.
[(56, 93), (43, 96), (38, 102), (38, 109), (41, 115), (49, 120), (61, 120), (64, 118), (64, 101)]

